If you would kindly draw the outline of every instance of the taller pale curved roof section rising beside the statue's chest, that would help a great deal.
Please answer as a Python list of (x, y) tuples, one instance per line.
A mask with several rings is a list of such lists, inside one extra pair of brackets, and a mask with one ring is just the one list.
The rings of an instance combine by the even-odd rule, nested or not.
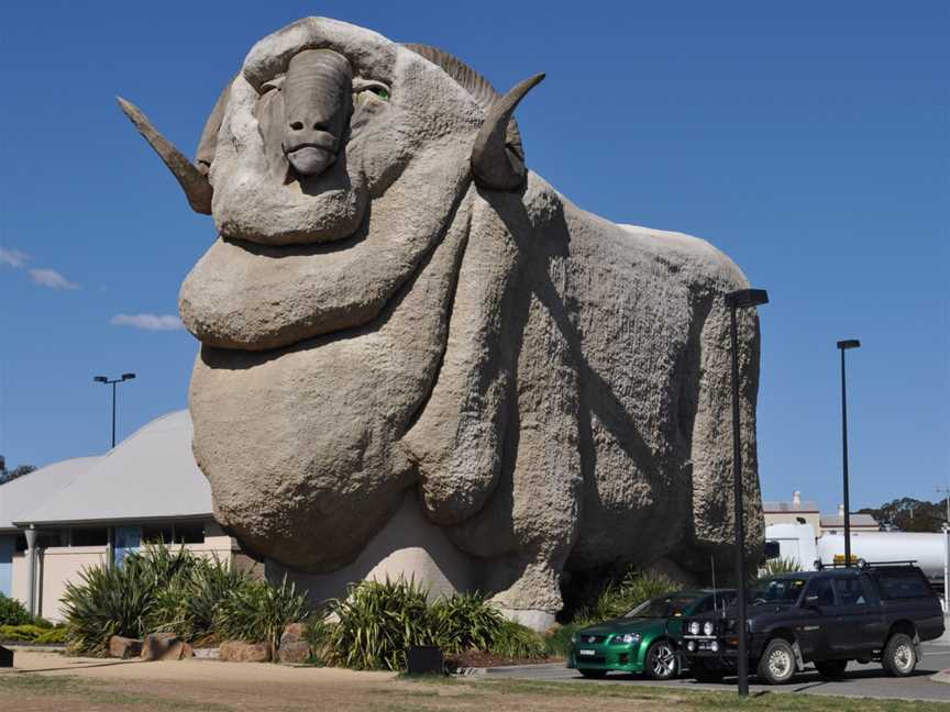
[(187, 410), (144, 425), (82, 477), (19, 512), (19, 525), (211, 516), (211, 488), (191, 454)]

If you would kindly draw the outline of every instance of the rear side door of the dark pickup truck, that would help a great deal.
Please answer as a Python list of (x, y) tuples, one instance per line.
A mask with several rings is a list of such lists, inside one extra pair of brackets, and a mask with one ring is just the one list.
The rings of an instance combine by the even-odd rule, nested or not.
[(866, 581), (854, 574), (835, 577), (838, 603), (835, 622), (828, 628), (831, 650), (839, 655), (881, 647), (884, 636), (881, 607), (873, 600)]

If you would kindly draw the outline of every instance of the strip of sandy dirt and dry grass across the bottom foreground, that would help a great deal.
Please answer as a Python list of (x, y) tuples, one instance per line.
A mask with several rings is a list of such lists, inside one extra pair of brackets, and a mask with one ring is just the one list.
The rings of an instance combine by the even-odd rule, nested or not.
[(638, 712), (745, 710), (923, 712), (927, 703), (771, 694), (734, 696), (669, 688), (523, 680), (404, 679), (389, 672), (254, 663), (142, 663), (18, 650), (0, 669), (0, 712), (576, 712), (619, 707)]

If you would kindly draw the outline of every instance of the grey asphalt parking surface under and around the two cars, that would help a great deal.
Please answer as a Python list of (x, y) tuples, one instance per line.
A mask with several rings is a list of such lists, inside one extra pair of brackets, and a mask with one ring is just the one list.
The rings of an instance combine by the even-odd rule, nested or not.
[[(882, 699), (902, 700), (937, 700), (950, 702), (950, 685), (935, 682), (930, 677), (941, 670), (950, 668), (950, 646), (924, 644), (924, 657), (914, 676), (907, 678), (893, 678), (884, 672), (880, 664), (859, 665), (851, 663), (844, 674), (844, 678), (828, 682), (822, 680), (818, 672), (808, 666), (804, 672), (796, 676), (791, 685), (767, 686), (756, 685), (755, 678), (751, 678), (749, 689), (751, 692), (803, 692), (806, 694), (835, 694), (844, 697), (873, 697)], [(611, 674), (603, 680), (587, 680), (576, 671), (570, 670), (562, 665), (523, 665), (510, 668), (489, 668), (486, 675), (491, 679), (515, 678), (524, 680), (543, 681), (574, 681), (584, 680), (588, 685), (662, 685), (666, 687), (682, 687), (692, 689), (729, 690), (734, 689), (736, 678), (726, 678), (721, 683), (697, 682), (692, 679), (671, 680), (669, 682), (654, 682), (640, 676)]]

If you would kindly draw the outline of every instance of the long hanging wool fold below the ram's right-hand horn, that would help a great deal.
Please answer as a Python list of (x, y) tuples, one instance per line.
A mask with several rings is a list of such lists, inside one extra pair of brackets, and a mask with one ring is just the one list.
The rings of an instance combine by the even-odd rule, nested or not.
[(519, 312), (521, 251), (474, 188), (463, 210), (468, 235), (445, 352), (432, 394), (401, 440), (419, 470), (426, 514), (443, 526), (479, 511), (498, 482), (520, 338), (512, 315)]

